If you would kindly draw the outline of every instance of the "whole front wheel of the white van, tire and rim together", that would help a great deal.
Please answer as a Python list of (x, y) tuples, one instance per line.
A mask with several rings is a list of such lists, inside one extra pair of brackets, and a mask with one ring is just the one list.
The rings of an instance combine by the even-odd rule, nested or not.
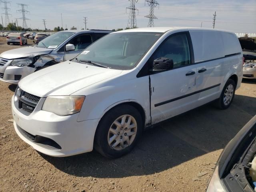
[(143, 130), (142, 117), (133, 106), (124, 104), (107, 112), (100, 120), (94, 148), (107, 158), (128, 154)]

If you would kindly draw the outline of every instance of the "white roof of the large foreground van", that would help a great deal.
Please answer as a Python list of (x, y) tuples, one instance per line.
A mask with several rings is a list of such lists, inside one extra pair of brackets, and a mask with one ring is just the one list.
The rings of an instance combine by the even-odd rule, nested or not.
[[(225, 30), (218, 30), (218, 29), (212, 29), (212, 28), (195, 28), (195, 27), (146, 27), (146, 28), (134, 28), (134, 29), (127, 29), (127, 30), (121, 30), (117, 32), (159, 32), (164, 33), (169, 30), (174, 29), (180, 29), (180, 30), (212, 30), (212, 31), (223, 31), (228, 32)], [(116, 32), (115, 32), (116, 33)]]

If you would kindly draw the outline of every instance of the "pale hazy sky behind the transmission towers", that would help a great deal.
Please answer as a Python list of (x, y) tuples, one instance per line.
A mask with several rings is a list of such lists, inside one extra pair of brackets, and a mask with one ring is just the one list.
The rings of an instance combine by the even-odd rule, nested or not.
[[(256, 32), (256, 0), (157, 0), (154, 26), (192, 26), (212, 28), (212, 18), (216, 10), (215, 28), (233, 32)], [(46, 28), (62, 26), (70, 29), (75, 26), (84, 28), (83, 17), (87, 17), (87, 28), (116, 29), (125, 28), (128, 22), (130, 6), (128, 0), (12, 0), (8, 7), (10, 20), (22, 17), (17, 3), (28, 4), (26, 14), (28, 27), (43, 29), (42, 19), (46, 20)], [(4, 6), (3, 3), (0, 4)], [(137, 26), (147, 27), (149, 6), (138, 0), (136, 8)], [(4, 13), (4, 10), (0, 10)], [(2, 14), (4, 20), (4, 14)], [(22, 20), (18, 20), (22, 26)]]

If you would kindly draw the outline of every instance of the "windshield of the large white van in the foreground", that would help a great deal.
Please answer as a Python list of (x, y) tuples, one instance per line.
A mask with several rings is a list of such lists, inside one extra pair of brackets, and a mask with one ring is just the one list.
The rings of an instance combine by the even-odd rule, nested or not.
[(155, 32), (108, 34), (86, 48), (73, 61), (91, 62), (113, 69), (132, 69), (161, 35)]

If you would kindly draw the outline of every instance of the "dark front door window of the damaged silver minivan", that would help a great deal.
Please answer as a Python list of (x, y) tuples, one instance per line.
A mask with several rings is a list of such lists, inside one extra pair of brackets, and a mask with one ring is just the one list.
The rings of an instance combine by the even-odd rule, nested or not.
[(81, 35), (70, 40), (68, 44), (73, 44), (75, 46), (75, 51), (82, 51), (90, 44), (92, 44), (92, 36), (90, 35)]

